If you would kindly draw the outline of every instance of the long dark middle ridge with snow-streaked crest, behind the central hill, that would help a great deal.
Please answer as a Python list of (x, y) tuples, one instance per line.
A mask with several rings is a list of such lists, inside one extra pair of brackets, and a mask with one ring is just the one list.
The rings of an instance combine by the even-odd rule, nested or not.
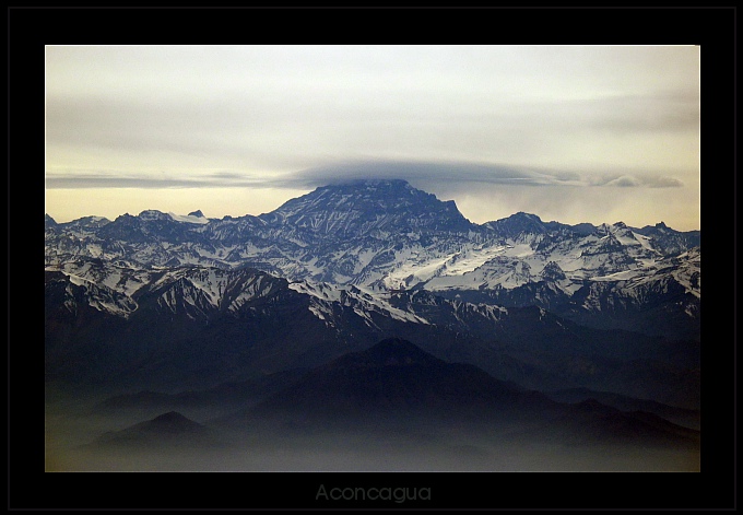
[(698, 402), (693, 341), (590, 328), (535, 306), (472, 304), (425, 290), (385, 294), (290, 283), (250, 268), (142, 272), (81, 259), (63, 270), (46, 272), (49, 381), (207, 388), (319, 365), (402, 337), (439, 359), (528, 388), (583, 386)]

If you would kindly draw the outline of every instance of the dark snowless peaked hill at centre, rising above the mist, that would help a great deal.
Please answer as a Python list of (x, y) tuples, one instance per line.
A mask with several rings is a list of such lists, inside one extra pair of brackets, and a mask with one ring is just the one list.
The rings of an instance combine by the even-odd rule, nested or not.
[(390, 338), (310, 371), (255, 413), (335, 418), (435, 409), (453, 415), (464, 409), (512, 405), (520, 395), (475, 366), (447, 363), (410, 341)]

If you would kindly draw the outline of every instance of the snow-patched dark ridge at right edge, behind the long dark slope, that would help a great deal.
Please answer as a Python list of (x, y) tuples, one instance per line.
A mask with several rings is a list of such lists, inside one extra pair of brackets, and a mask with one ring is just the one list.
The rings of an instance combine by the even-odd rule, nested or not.
[[(556, 258), (555, 255), (551, 256)], [(677, 256), (589, 280), (571, 281), (556, 261), (549, 261), (539, 276), (517, 284), (531, 268), (519, 260), (500, 260), (481, 268), (486, 273), (498, 265), (495, 283), (487, 288), (436, 291), (447, 299), (505, 307), (535, 305), (564, 318), (602, 329), (641, 331), (671, 339), (699, 339), (700, 251), (698, 247)], [(563, 265), (565, 266), (565, 264)], [(490, 277), (485, 277), (488, 279)], [(464, 285), (465, 281), (461, 281)]]

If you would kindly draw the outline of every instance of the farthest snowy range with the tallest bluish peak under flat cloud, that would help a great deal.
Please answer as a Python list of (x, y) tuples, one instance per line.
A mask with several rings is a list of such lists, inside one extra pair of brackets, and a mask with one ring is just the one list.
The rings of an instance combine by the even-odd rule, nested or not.
[[(673, 235), (669, 231), (664, 236)], [(47, 234), (45, 248), (48, 265), (78, 256), (126, 258), (145, 267), (250, 265), (290, 280), (388, 289), (423, 283), (433, 290), (518, 286), (539, 277), (549, 261), (585, 280), (647, 267), (663, 256), (653, 236), (622, 223), (585, 234), (517, 213), (475, 225), (452, 202), (396, 180), (318, 188), (261, 216), (209, 220), (149, 210), (119, 216), (95, 233)], [(516, 271), (506, 260), (502, 271), (503, 258), (526, 266)], [(471, 276), (477, 270), (480, 279)]]

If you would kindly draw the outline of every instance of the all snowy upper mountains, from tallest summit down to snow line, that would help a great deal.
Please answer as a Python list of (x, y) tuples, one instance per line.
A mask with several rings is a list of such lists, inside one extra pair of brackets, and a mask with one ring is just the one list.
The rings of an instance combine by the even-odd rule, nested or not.
[(146, 210), (113, 222), (52, 222), (45, 232), (48, 270), (132, 299), (162, 289), (161, 308), (197, 318), (239, 311), (266, 294), (266, 284), (240, 277), (245, 267), (293, 282), (288, 289), (311, 297), (308, 309), (328, 324), (339, 305), (369, 324), (375, 316), (433, 323), (417, 304), (399, 305), (391, 290), (594, 313), (608, 303), (640, 308), (681, 291), (695, 299), (687, 316), (698, 317), (698, 231), (662, 222), (565, 225), (523, 212), (477, 225), (452, 201), (404, 180), (325, 186), (260, 216)]

